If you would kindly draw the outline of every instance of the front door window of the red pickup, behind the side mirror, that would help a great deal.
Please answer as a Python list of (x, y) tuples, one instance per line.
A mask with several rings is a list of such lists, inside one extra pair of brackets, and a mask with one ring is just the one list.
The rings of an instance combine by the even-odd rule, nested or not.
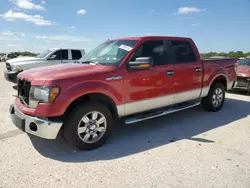
[(131, 61), (138, 57), (152, 57), (154, 65), (165, 65), (168, 63), (167, 50), (162, 40), (144, 42), (133, 55)]

